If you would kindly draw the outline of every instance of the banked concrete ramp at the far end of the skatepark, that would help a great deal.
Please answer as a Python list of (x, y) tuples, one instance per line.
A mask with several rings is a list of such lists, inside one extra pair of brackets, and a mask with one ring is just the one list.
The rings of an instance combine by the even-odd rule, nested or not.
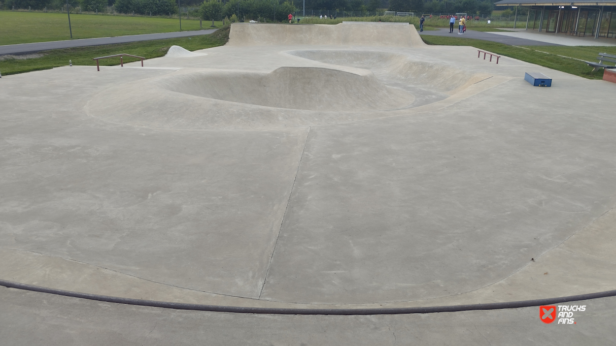
[(426, 44), (408, 23), (326, 24), (234, 23), (228, 46), (320, 45), (418, 47)]

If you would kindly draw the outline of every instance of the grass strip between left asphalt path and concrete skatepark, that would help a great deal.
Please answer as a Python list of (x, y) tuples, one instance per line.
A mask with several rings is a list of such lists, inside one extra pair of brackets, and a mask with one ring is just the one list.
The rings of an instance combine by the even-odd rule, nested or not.
[[(7, 60), (0, 60), (0, 72), (2, 72), (4, 76), (7, 74), (47, 70), (49, 68), (66, 66), (68, 65), (68, 60), (72, 60), (73, 65), (94, 66), (96, 62), (92, 60), (92, 58), (120, 53), (134, 54), (148, 59), (156, 58), (165, 55), (169, 47), (173, 45), (181, 46), (188, 50), (222, 46), (229, 41), (229, 28), (229, 26), (224, 26), (212, 34), (193, 36), (192, 38), (158, 39), (155, 41), (108, 44), (105, 46), (47, 50), (39, 52), (38, 54), (43, 55), (39, 58), (25, 60), (9, 58)], [(136, 58), (124, 57), (124, 62), (134, 61), (139, 60)], [(120, 65), (120, 58), (100, 60), (100, 65)]]

